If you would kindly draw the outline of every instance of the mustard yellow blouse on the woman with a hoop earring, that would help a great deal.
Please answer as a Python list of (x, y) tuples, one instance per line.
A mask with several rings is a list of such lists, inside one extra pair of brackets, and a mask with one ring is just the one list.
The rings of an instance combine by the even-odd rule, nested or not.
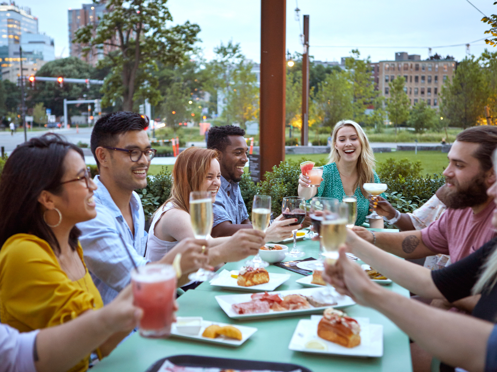
[[(67, 322), (86, 310), (103, 307), (102, 298), (86, 273), (71, 281), (50, 245), (30, 234), (11, 236), (0, 249), (0, 320), (20, 332)], [(89, 356), (71, 372), (88, 369)]]

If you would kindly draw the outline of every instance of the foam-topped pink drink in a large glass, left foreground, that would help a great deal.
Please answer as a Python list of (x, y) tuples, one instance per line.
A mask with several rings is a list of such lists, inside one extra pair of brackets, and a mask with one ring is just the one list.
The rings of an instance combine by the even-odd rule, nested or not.
[(167, 337), (171, 333), (176, 272), (171, 265), (149, 264), (131, 272), (135, 305), (143, 310), (140, 335)]

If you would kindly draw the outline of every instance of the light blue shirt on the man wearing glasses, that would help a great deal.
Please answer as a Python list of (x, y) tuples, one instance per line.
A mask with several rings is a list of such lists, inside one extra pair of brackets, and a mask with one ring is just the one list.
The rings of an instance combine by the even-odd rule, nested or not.
[(80, 243), (83, 248), (84, 262), (102, 296), (104, 305), (107, 305), (128, 285), (131, 279), (130, 271), (133, 269), (133, 263), (126, 252), (123, 241), (138, 266), (149, 262), (144, 257), (147, 247), (145, 215), (140, 197), (133, 191), (130, 200), (135, 228), (133, 236), (107, 188), (103, 186), (98, 176), (95, 176), (93, 181), (98, 186), (93, 194), (96, 217), (80, 222), (76, 226), (82, 232)]

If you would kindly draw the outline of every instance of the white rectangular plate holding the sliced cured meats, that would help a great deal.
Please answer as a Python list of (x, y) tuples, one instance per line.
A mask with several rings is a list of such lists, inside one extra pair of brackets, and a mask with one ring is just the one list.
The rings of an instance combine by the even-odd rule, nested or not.
[[(269, 292), (269, 294), (270, 295), (279, 294), (281, 297), (284, 297), (286, 295), (312, 296), (314, 293), (319, 292), (321, 290), (322, 290), (321, 288), (292, 289), (288, 291)], [(250, 294), (216, 296), (216, 301), (218, 302), (221, 309), (223, 309), (224, 312), (226, 312), (226, 315), (228, 315), (232, 319), (255, 319), (255, 318), (260, 319), (260, 318), (274, 318), (280, 316), (293, 316), (300, 314), (323, 313), (323, 310), (327, 308), (341, 309), (355, 304), (354, 300), (352, 300), (350, 297), (341, 296), (332, 288), (331, 288), (331, 293), (333, 294), (333, 296), (335, 296), (335, 301), (337, 303), (336, 305), (323, 306), (319, 308), (311, 307), (310, 309), (297, 309), (297, 310), (285, 310), (285, 311), (271, 310), (269, 312), (255, 312), (250, 314), (238, 314), (231, 307), (234, 304), (241, 304), (243, 302), (251, 301)]]

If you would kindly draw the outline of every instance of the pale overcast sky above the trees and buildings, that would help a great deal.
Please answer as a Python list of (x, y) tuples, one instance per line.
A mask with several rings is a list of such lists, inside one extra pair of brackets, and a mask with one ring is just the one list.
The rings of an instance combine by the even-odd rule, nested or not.
[[(81, 8), (83, 2), (51, 0), (47, 6), (40, 0), (16, 1), (31, 7), (38, 17), (39, 31), (55, 39), (56, 56), (67, 57), (67, 10)], [(497, 13), (494, 0), (470, 1), (486, 15)], [(296, 2), (301, 9), (300, 25), (295, 20)], [(167, 4), (174, 23), (189, 20), (200, 25), (199, 45), (207, 60), (212, 59), (215, 46), (232, 39), (241, 44), (249, 59), (259, 62), (260, 0), (169, 0)], [(466, 55), (465, 46), (436, 47), (482, 39), (489, 28), (467, 0), (287, 0), (286, 46), (291, 53), (302, 51), (299, 34), (303, 14), (310, 15), (310, 53), (321, 61), (340, 61), (352, 48), (358, 48), (361, 56), (371, 56), (373, 62), (392, 60), (395, 52), (419, 54), (425, 59), (428, 47), (433, 47), (433, 54), (450, 54), (460, 61)], [(479, 41), (471, 44), (470, 51), (480, 55), (486, 47)], [(497, 51), (497, 47), (489, 48)]]

